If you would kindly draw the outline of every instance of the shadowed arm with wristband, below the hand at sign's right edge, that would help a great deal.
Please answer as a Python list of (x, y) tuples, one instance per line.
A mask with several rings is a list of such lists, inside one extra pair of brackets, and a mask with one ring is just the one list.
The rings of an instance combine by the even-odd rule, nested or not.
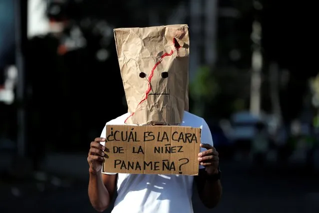
[[(218, 171), (217, 171), (218, 172)], [(199, 169), (199, 175), (195, 176), (197, 190), (203, 204), (208, 208), (215, 207), (222, 197), (222, 184), (220, 180), (211, 180), (205, 168)]]

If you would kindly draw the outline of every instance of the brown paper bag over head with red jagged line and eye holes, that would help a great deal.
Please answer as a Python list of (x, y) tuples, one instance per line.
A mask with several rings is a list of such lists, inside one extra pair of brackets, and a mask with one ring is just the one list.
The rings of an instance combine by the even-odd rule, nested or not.
[(187, 24), (116, 28), (130, 116), (126, 124), (177, 124), (188, 111)]

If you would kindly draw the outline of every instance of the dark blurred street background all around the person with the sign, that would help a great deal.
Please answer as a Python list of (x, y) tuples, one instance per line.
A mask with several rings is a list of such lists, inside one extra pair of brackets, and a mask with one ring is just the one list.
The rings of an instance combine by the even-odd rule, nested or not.
[(210, 210), (194, 193), (194, 211), (318, 213), (319, 70), (309, 5), (0, 0), (0, 212), (95, 212), (89, 143), (127, 111), (113, 28), (187, 23), (190, 111), (210, 126), (224, 187)]

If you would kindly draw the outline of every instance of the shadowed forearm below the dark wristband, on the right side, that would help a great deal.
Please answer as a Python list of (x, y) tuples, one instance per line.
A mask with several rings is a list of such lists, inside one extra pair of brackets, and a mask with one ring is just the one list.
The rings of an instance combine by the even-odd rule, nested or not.
[(201, 200), (208, 208), (215, 207), (222, 197), (222, 184), (220, 180), (214, 182), (206, 180), (200, 192)]

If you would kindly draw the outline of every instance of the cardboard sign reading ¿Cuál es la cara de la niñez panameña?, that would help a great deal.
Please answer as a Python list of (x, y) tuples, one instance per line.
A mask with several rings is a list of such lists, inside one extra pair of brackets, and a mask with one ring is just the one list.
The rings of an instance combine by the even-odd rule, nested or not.
[(107, 125), (103, 170), (198, 175), (201, 128)]

